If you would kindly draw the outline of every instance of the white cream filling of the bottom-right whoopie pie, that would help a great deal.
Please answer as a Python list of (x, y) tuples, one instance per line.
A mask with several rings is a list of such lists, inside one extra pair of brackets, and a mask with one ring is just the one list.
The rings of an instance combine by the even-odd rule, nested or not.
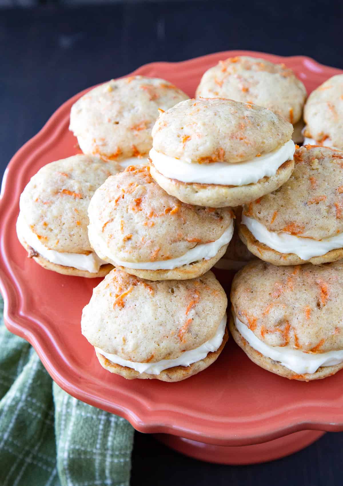
[(300, 349), (269, 346), (260, 341), (251, 329), (240, 322), (237, 315), (233, 313), (233, 316), (236, 328), (251, 347), (263, 356), (278, 361), (298, 375), (315, 373), (320, 366), (333, 366), (343, 362), (343, 349), (325, 353), (304, 353)]

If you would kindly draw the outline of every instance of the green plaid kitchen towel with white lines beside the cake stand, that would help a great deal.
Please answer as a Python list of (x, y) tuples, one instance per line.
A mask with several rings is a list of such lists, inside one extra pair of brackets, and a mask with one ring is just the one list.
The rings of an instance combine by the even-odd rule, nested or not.
[(0, 485), (128, 486), (132, 426), (53, 383), (2, 314), (0, 296)]

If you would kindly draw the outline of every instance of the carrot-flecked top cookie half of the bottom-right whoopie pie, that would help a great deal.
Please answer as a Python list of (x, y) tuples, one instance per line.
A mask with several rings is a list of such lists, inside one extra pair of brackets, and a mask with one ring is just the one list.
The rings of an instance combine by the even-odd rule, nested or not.
[(253, 261), (236, 274), (238, 319), (270, 346), (321, 353), (343, 349), (343, 261), (274, 266)]

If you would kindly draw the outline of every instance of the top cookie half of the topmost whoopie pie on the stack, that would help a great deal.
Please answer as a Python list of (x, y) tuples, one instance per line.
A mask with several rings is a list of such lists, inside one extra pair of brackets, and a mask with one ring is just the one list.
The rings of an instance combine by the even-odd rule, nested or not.
[(153, 149), (189, 163), (237, 163), (276, 150), (292, 131), (291, 123), (257, 105), (192, 99), (160, 114)]

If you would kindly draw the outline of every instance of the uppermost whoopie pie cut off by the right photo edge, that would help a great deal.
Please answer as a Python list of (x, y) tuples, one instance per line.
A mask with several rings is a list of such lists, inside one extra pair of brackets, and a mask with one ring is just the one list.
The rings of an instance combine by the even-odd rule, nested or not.
[(326, 80), (304, 108), (304, 143), (343, 150), (343, 74)]

